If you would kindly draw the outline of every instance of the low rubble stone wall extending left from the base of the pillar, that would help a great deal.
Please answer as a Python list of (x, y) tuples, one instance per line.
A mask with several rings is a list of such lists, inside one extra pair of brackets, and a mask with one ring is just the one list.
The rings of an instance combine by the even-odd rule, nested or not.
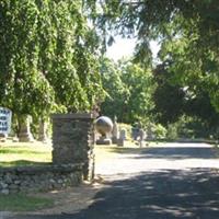
[(45, 164), (38, 166), (1, 168), (0, 194), (51, 191), (78, 185), (83, 164)]

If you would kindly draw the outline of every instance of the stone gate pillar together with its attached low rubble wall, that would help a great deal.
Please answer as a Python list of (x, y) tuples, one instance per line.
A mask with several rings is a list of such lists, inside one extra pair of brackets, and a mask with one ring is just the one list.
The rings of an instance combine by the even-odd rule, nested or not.
[(0, 168), (0, 194), (51, 191), (94, 176), (94, 117), (56, 114), (53, 118), (53, 164)]

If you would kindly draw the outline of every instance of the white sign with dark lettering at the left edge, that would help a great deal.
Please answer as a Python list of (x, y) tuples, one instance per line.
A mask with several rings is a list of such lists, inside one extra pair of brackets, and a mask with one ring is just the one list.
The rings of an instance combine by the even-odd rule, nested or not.
[(0, 134), (9, 134), (11, 131), (11, 111), (0, 107)]

